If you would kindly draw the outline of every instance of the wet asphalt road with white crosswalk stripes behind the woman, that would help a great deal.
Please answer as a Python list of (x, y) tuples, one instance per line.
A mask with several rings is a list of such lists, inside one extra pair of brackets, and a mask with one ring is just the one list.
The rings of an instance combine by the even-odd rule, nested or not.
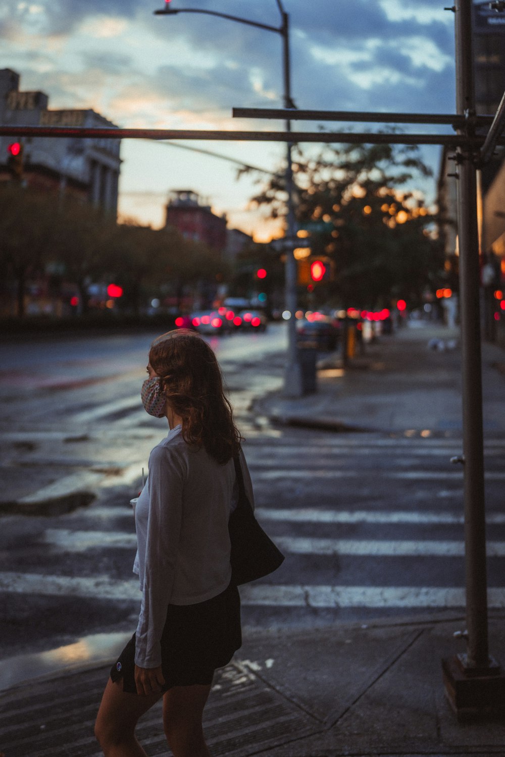
[[(139, 402), (145, 337), (5, 347), (0, 374), (2, 500), (64, 477), (95, 476), (98, 497), (72, 512), (0, 516), (0, 656), (131, 633), (139, 592), (128, 500), (165, 433)], [(263, 525), (287, 559), (244, 587), (246, 627), (459, 617), (464, 605), (457, 432), (430, 438), (335, 434), (270, 425), (254, 397), (282, 382), (285, 334), (212, 343), (223, 366)], [(488, 583), (503, 605), (503, 447), (488, 441)], [(100, 638), (103, 638), (100, 636)], [(81, 658), (83, 650), (80, 650)]]

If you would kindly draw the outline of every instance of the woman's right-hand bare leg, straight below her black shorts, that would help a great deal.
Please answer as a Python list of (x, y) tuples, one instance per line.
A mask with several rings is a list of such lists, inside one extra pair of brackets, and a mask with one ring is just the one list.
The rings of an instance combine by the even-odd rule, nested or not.
[(210, 685), (174, 686), (163, 698), (163, 724), (173, 757), (210, 757), (201, 716)]

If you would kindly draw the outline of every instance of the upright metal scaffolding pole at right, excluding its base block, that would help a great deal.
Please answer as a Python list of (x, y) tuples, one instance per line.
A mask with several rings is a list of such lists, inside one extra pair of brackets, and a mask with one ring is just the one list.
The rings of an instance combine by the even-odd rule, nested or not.
[[(456, 6), (457, 112), (475, 113), (472, 55), (472, 6)], [(465, 129), (460, 129), (465, 132)], [(466, 136), (472, 136), (466, 131)], [(482, 358), (479, 310), (479, 232), (477, 182), (472, 149), (458, 151), (458, 234), (460, 245), (461, 343), (463, 369), (463, 456), (465, 475), (466, 665), (488, 666), (488, 603), (485, 544)]]

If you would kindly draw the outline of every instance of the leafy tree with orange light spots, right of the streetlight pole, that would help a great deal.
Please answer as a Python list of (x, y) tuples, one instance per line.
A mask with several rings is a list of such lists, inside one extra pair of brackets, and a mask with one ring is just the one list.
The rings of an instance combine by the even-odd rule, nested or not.
[[(293, 169), (298, 223), (310, 229), (305, 241), (335, 271), (332, 282), (316, 286), (320, 298), (370, 309), (400, 295), (419, 301), (443, 263), (422, 194), (402, 188), (431, 173), (418, 148), (328, 145), (316, 157), (298, 150)], [(270, 179), (252, 202), (282, 216), (282, 178)]]

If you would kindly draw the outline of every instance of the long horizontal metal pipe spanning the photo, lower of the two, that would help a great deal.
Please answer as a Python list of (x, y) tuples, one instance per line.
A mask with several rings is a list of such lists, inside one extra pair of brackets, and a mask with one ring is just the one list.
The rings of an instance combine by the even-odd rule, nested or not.
[[(444, 134), (383, 134), (377, 132), (248, 132), (199, 129), (112, 129), (86, 126), (0, 126), (0, 136), (79, 137), (80, 139), (200, 139), (229, 142), (325, 142), (366, 145), (447, 145), (479, 148), (483, 136), (469, 139)], [(497, 139), (505, 145), (505, 137)]]

